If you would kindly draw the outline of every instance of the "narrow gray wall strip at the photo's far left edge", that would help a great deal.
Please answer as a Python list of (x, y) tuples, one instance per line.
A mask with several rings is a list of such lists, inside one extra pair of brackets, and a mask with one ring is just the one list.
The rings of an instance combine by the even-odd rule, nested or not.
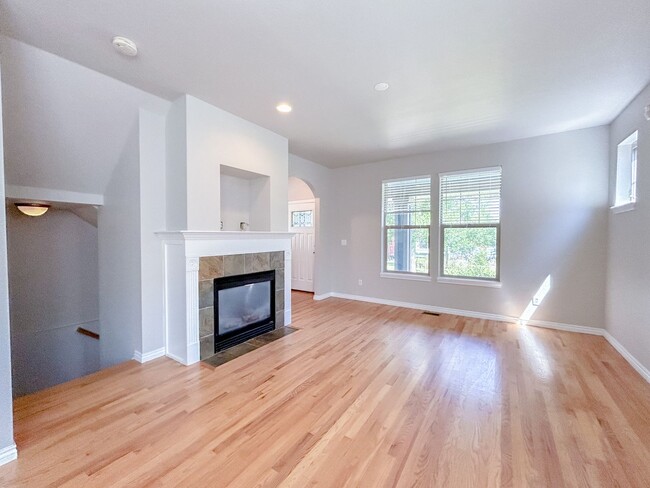
[[(0, 78), (2, 73), (0, 73)], [(1, 91), (1, 90), (0, 90)], [(2, 97), (0, 96), (0, 100)], [(5, 217), (4, 147), (0, 102), (0, 452), (14, 445), (7, 276), (7, 221)]]

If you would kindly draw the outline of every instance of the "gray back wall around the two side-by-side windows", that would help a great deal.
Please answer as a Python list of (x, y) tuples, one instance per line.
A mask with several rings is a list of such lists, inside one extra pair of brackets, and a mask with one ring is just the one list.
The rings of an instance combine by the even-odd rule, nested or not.
[[(437, 283), (438, 173), (497, 165), (502, 288)], [(424, 174), (432, 176), (433, 280), (380, 278), (382, 180)], [(605, 326), (607, 127), (351, 166), (334, 170), (333, 181), (332, 291), (519, 317), (551, 275), (533, 320)]]

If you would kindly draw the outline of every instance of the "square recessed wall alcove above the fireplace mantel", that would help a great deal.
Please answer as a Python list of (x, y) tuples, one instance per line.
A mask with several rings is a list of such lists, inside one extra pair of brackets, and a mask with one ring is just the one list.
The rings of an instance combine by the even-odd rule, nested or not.
[(222, 164), (220, 168), (221, 222), (227, 231), (271, 230), (270, 177)]

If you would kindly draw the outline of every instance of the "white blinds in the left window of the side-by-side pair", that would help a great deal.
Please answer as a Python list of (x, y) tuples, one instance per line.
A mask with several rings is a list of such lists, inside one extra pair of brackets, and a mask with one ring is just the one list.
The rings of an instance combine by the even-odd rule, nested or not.
[[(431, 177), (385, 181), (383, 184), (384, 224), (394, 225), (406, 218), (409, 223), (420, 221), (414, 214), (430, 219)], [(396, 217), (400, 217), (396, 219)], [(419, 222), (418, 222), (419, 223)]]

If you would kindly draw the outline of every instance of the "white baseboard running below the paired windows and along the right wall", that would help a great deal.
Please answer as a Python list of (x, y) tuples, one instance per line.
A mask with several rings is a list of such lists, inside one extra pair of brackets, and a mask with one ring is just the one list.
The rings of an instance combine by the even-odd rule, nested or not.
[[(450, 315), (460, 315), (461, 317), (471, 317), (485, 320), (498, 320), (500, 322), (520, 323), (516, 317), (507, 315), (498, 315), (484, 312), (474, 312), (472, 310), (460, 310), (455, 308), (436, 307), (434, 305), (422, 305), (419, 303), (400, 302), (397, 300), (386, 300), (384, 298), (365, 297), (361, 295), (349, 295), (347, 293), (330, 292), (322, 295), (315, 295), (314, 300), (325, 300), (326, 298), (344, 298), (346, 300), (355, 300), (358, 302), (378, 303), (380, 305), (389, 305), (392, 307), (413, 308), (416, 310), (426, 310), (427, 312), (445, 313)], [(607, 330), (598, 327), (587, 327), (585, 325), (563, 324), (561, 322), (548, 322), (545, 320), (528, 320), (526, 325), (533, 327), (544, 327), (546, 329), (556, 329), (565, 332), (576, 332), (578, 334), (591, 334), (604, 337), (618, 353), (630, 363), (630, 365), (650, 383), (650, 370), (643, 366), (623, 345), (618, 342)]]

